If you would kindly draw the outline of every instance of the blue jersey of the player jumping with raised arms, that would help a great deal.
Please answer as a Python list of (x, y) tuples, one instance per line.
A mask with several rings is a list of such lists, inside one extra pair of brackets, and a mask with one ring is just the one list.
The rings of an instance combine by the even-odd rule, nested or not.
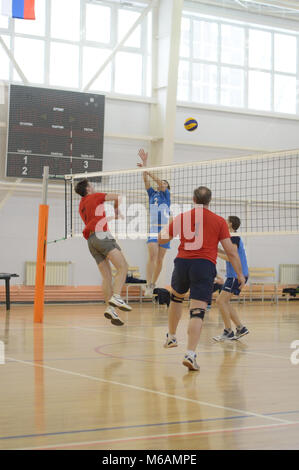
[(147, 190), (150, 205), (150, 225), (162, 226), (169, 222), (170, 192), (155, 191), (152, 187)]

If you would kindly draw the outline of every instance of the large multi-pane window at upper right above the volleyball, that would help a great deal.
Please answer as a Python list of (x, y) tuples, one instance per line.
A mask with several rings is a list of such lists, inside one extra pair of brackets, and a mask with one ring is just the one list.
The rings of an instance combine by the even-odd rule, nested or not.
[(299, 114), (299, 35), (185, 11), (178, 100)]

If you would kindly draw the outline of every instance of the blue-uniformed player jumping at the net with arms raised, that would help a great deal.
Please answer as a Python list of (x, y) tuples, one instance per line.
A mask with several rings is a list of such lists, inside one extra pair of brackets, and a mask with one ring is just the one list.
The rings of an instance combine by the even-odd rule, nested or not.
[[(142, 161), (142, 163), (138, 163), (138, 166), (146, 167), (148, 154), (143, 149), (140, 149), (138, 155)], [(151, 179), (156, 183), (157, 189), (152, 187)], [(148, 171), (143, 173), (143, 180), (149, 197), (150, 207), (150, 235), (147, 240), (148, 261), (146, 266), (147, 285), (145, 295), (151, 296), (161, 273), (165, 254), (170, 248), (169, 242), (164, 245), (158, 244), (158, 234), (169, 223), (170, 186), (168, 181), (161, 180)]]

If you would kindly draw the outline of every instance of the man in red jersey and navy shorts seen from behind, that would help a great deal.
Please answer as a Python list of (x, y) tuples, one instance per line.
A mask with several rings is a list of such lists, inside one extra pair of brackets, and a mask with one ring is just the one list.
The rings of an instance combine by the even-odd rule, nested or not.
[(190, 370), (199, 370), (195, 351), (213, 292), (219, 242), (236, 271), (240, 289), (245, 284), (240, 258), (231, 242), (227, 223), (209, 210), (211, 198), (212, 193), (208, 188), (200, 186), (195, 189), (195, 207), (178, 215), (159, 234), (159, 243), (166, 243), (177, 235), (181, 240), (171, 279), (169, 329), (164, 346), (173, 348), (178, 345), (176, 330), (182, 315), (184, 296), (190, 289), (188, 346), (183, 360), (183, 365)]

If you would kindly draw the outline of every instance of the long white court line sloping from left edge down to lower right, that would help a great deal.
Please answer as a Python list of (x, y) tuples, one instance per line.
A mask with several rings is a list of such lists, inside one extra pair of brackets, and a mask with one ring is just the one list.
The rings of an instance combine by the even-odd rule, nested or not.
[(174, 398), (176, 400), (185, 401), (187, 403), (194, 403), (196, 405), (210, 406), (211, 408), (217, 408), (217, 409), (220, 409), (220, 410), (232, 411), (234, 413), (239, 413), (239, 414), (242, 414), (242, 415), (245, 414), (245, 415), (248, 415), (248, 416), (255, 416), (256, 418), (268, 419), (270, 421), (275, 421), (275, 422), (284, 423), (284, 424), (292, 424), (294, 422), (294, 421), (288, 421), (288, 420), (281, 419), (281, 418), (274, 418), (272, 416), (264, 416), (264, 415), (261, 415), (259, 413), (254, 413), (252, 411), (240, 410), (238, 408), (231, 408), (229, 406), (216, 405), (214, 403), (209, 403), (209, 402), (200, 401), (200, 400), (194, 400), (192, 398), (186, 398), (186, 397), (182, 397), (180, 395), (173, 395), (173, 394), (166, 393), (166, 392), (160, 392), (158, 390), (152, 390), (150, 388), (139, 387), (138, 385), (131, 385), (131, 384), (126, 384), (126, 383), (122, 383), (122, 382), (116, 382), (114, 380), (101, 379), (99, 377), (93, 377), (92, 375), (85, 375), (85, 374), (80, 374), (79, 372), (72, 372), (70, 370), (58, 369), (56, 367), (50, 367), (50, 366), (46, 366), (44, 364), (36, 364), (34, 362), (31, 362), (31, 361), (22, 361), (20, 359), (15, 359), (13, 357), (8, 357), (7, 359), (9, 359), (11, 361), (15, 361), (15, 362), (20, 363), (20, 364), (27, 365), (27, 366), (41, 367), (43, 369), (51, 370), (53, 372), (59, 372), (59, 373), (62, 373), (62, 374), (67, 374), (67, 375), (72, 375), (72, 376), (75, 376), (75, 377), (80, 377), (80, 378), (83, 378), (83, 379), (93, 380), (95, 382), (107, 383), (107, 384), (110, 384), (110, 385), (117, 385), (118, 387), (129, 388), (129, 389), (132, 389), (132, 390), (137, 390), (139, 392), (152, 393), (154, 395), (159, 395), (159, 396), (165, 397), (165, 398)]

